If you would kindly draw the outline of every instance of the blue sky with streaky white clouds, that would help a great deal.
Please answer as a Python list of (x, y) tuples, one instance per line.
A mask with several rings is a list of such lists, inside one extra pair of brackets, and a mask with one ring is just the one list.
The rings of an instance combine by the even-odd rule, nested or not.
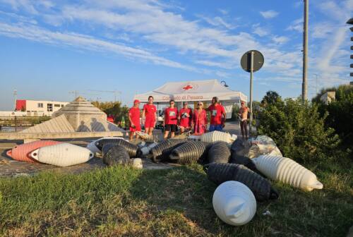
[[(112, 100), (168, 81), (225, 80), (249, 95), (241, 55), (258, 49), (254, 97), (301, 93), (303, 1), (0, 0), (0, 109), (20, 99)], [(349, 83), (352, 0), (311, 0), (309, 97)]]

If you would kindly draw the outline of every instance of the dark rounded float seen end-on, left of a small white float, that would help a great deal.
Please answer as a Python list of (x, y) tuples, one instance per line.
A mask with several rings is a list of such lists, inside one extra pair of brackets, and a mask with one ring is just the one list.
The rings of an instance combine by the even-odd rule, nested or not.
[(108, 166), (116, 164), (131, 164), (130, 157), (125, 147), (108, 143), (102, 147), (103, 163)]

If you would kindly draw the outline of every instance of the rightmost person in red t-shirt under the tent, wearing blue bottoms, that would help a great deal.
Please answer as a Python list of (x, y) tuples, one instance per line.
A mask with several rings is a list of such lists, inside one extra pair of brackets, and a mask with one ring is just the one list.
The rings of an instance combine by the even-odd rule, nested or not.
[(219, 104), (217, 97), (212, 98), (212, 104), (208, 107), (207, 111), (211, 113), (210, 132), (214, 130), (222, 131), (225, 127), (225, 118), (227, 118), (227, 115), (225, 114), (225, 107)]

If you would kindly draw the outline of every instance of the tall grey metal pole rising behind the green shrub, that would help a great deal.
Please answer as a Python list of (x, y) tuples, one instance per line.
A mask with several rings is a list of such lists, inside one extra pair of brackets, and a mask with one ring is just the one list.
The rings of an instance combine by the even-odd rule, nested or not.
[(308, 71), (308, 28), (309, 28), (309, 0), (304, 0), (304, 31), (303, 31), (303, 83), (301, 85), (301, 99), (308, 99), (307, 71)]

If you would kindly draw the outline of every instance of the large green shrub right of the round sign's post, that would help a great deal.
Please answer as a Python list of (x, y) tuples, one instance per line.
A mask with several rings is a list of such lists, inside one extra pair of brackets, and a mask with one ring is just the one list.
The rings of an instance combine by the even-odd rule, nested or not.
[(277, 99), (259, 114), (258, 134), (275, 140), (285, 157), (313, 163), (333, 159), (339, 138), (325, 128), (318, 105), (300, 100)]

